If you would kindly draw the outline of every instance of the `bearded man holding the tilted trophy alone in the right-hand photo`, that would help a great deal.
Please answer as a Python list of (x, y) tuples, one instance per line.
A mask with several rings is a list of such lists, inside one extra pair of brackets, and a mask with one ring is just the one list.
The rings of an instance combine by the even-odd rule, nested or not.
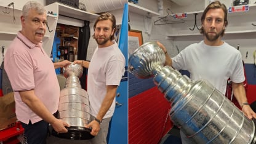
[[(234, 47), (222, 41), (222, 36), (228, 25), (227, 9), (224, 4), (214, 1), (206, 7), (201, 17), (201, 34), (204, 40), (191, 44), (180, 54), (170, 58), (161, 43), (159, 46), (166, 52), (166, 63), (177, 70), (188, 70), (192, 80), (207, 79), (222, 94), (226, 92), (226, 81), (232, 81), (232, 89), (244, 114), (256, 118), (256, 114), (247, 103), (245, 81), (242, 65), (242, 55)], [(182, 143), (194, 143), (180, 132)], [(191, 139), (191, 138), (190, 138)]]

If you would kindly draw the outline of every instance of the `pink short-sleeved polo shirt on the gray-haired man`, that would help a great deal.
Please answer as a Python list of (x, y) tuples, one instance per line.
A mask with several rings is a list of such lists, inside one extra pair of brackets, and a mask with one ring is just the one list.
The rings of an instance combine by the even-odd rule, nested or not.
[(58, 109), (60, 87), (55, 74), (54, 64), (42, 49), (42, 42), (38, 45), (29, 41), (18, 32), (4, 56), (4, 68), (14, 89), (16, 116), (19, 121), (28, 124), (29, 121), (41, 121), (30, 108), (22, 102), (18, 92), (34, 90), (50, 113)]

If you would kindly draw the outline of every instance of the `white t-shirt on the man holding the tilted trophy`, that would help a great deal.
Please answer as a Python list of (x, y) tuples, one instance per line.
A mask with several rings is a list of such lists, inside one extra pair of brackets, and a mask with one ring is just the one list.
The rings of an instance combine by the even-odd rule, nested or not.
[(222, 46), (207, 46), (204, 41), (191, 44), (172, 58), (177, 70), (188, 70), (191, 80), (206, 79), (222, 94), (226, 81), (239, 83), (245, 80), (242, 55), (226, 42)]

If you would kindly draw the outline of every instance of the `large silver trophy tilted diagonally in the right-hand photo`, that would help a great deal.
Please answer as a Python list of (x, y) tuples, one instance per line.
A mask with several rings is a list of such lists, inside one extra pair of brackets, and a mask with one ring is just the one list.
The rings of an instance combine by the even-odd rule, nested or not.
[(137, 78), (153, 77), (172, 103), (170, 118), (196, 143), (255, 143), (255, 123), (206, 80), (191, 81), (171, 66), (156, 42), (138, 47), (129, 57)]

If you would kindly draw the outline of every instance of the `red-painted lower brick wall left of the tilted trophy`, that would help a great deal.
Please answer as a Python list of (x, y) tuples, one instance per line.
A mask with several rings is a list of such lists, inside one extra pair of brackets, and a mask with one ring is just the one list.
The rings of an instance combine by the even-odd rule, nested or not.
[(129, 143), (159, 143), (169, 132), (170, 103), (157, 87), (129, 98)]

